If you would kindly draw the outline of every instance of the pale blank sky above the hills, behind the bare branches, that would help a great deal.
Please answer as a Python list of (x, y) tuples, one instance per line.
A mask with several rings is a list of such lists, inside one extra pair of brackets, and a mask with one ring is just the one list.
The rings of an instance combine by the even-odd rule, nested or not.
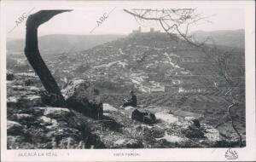
[[(134, 3), (134, 2), (133, 2)], [(44, 23), (38, 28), (38, 36), (48, 34), (79, 34), (79, 35), (99, 35), (99, 34), (120, 34), (126, 35), (136, 30), (140, 24), (134, 19), (131, 14), (127, 14), (123, 9), (166, 9), (166, 4), (148, 3), (82, 3), (86, 5), (74, 5), (70, 9), (71, 12), (57, 14), (48, 22)], [(17, 7), (18, 6), (18, 7)], [(59, 9), (60, 5), (55, 5)], [(172, 5), (170, 5), (172, 6)], [(67, 4), (63, 4), (66, 9)], [(134, 8), (137, 7), (137, 8)], [(176, 7), (176, 6), (175, 6)], [(178, 6), (181, 8), (180, 6)], [(189, 32), (193, 31), (216, 31), (216, 30), (237, 30), (244, 29), (244, 10), (235, 7), (226, 7), (219, 5), (192, 5), (196, 12), (201, 16), (206, 16), (207, 20), (211, 21), (207, 23), (205, 21), (199, 22), (195, 26), (189, 27)], [(17, 20), (22, 14), (33, 14), (41, 9), (52, 9), (49, 4), (39, 5), (38, 3), (27, 3), (19, 5), (17, 3), (11, 3), (6, 5), (4, 10), (6, 18), (6, 36), (7, 38), (25, 38), (26, 33), (26, 19), (20, 20), (17, 24)], [(176, 7), (177, 8), (177, 7)], [(170, 8), (169, 8), (170, 9)], [(112, 11), (106, 20), (97, 26), (97, 20), (103, 15)], [(106, 15), (105, 14), (105, 15)], [(96, 27), (97, 26), (97, 27)], [(96, 28), (95, 28), (96, 27)], [(142, 31), (149, 31), (150, 27), (154, 27), (155, 30), (161, 30), (159, 24), (154, 21), (147, 21), (143, 23)], [(95, 29), (94, 29), (95, 28)], [(93, 30), (94, 29), (94, 30)], [(92, 31), (93, 30), (93, 31)], [(91, 32), (92, 31), (92, 32)], [(162, 31), (162, 30), (161, 30)]]

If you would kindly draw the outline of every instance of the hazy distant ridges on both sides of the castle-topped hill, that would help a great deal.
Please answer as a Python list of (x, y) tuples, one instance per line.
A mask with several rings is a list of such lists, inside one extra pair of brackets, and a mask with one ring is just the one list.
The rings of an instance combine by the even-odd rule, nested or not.
[[(219, 30), (219, 31), (195, 31), (198, 41), (204, 41), (208, 37), (213, 38), (217, 45), (228, 47), (235, 47), (244, 49), (245, 37), (244, 29), (239, 30)], [(119, 38), (125, 38), (125, 35), (68, 35), (68, 34), (53, 34), (45, 35), (38, 38), (39, 49), (44, 55), (44, 51), (50, 52), (71, 52), (83, 51), (91, 49), (97, 45), (115, 41)], [(24, 50), (25, 40), (15, 39), (7, 42), (7, 49), (9, 51), (21, 52)]]

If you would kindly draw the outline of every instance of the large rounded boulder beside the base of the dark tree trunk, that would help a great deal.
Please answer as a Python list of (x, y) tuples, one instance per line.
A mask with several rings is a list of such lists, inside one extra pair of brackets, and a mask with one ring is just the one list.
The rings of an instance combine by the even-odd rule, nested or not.
[(95, 87), (83, 79), (75, 78), (68, 82), (66, 87), (61, 90), (67, 107), (72, 107), (74, 110), (84, 113), (84, 115), (100, 118), (102, 117), (102, 102), (96, 100)]

